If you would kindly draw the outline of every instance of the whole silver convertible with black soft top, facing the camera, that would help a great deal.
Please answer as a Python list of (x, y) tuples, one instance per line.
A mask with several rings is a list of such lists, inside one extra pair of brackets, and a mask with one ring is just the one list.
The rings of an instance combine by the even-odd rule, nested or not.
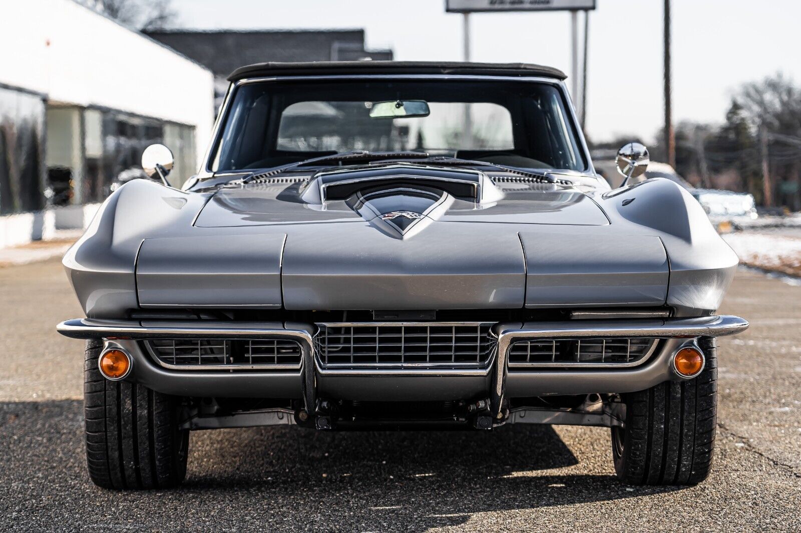
[[(198, 174), (111, 194), (64, 258), (91, 479), (169, 487), (189, 432), (610, 427), (625, 483), (698, 483), (735, 253), (646, 148), (595, 173), (560, 71), (264, 63)], [(186, 180), (186, 181), (184, 181)]]

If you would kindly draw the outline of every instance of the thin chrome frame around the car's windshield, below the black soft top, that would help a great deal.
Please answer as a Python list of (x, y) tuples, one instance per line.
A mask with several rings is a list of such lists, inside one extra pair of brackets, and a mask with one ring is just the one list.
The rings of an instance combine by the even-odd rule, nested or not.
[[(203, 174), (199, 178), (213, 178), (217, 176), (230, 175), (230, 174), (248, 174), (252, 170), (264, 169), (239, 169), (239, 170), (211, 170), (213, 159), (219, 145), (223, 140), (223, 133), (231, 114), (232, 104), (235, 100), (236, 93), (241, 86), (250, 85), (253, 83), (269, 83), (269, 82), (286, 82), (286, 81), (314, 81), (314, 80), (388, 80), (388, 79), (404, 79), (404, 80), (445, 80), (453, 81), (497, 81), (497, 82), (531, 82), (547, 84), (555, 87), (558, 90), (559, 97), (562, 98), (562, 106), (565, 111), (566, 126), (569, 128), (570, 133), (574, 135), (574, 140), (578, 147), (579, 154), (584, 160), (586, 167), (584, 170), (578, 170), (581, 174), (595, 174), (592, 159), (590, 158), (590, 150), (586, 144), (583, 131), (579, 127), (578, 115), (576, 113), (573, 101), (567, 93), (565, 82), (555, 78), (546, 78), (542, 76), (489, 76), (489, 75), (465, 75), (465, 74), (326, 74), (326, 75), (302, 75), (302, 76), (263, 76), (257, 78), (244, 78), (236, 82), (232, 82), (228, 86), (227, 93), (223, 99), (223, 104), (220, 106), (215, 121), (214, 128), (211, 132), (211, 142), (207, 145), (206, 154), (203, 156)], [(272, 168), (272, 167), (269, 167)], [(531, 169), (531, 170), (547, 170), (551, 172), (570, 172), (576, 173), (577, 170), (569, 169)]]

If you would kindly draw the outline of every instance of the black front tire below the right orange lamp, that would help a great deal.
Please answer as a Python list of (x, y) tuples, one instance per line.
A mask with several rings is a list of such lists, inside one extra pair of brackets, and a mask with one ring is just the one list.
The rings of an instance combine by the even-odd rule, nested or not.
[(718, 410), (714, 339), (699, 339), (706, 366), (697, 378), (622, 395), (625, 429), (612, 428), (614, 469), (630, 485), (695, 485), (712, 467)]

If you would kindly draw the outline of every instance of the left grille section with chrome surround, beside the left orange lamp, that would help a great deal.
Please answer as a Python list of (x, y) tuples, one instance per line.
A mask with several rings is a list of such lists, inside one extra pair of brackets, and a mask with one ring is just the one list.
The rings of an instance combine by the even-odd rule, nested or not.
[(282, 370), (300, 367), (291, 339), (151, 339), (148, 351), (162, 367), (180, 370)]

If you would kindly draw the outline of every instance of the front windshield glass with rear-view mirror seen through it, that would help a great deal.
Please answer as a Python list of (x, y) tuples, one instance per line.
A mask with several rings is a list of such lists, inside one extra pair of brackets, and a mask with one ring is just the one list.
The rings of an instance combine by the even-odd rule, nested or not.
[[(425, 113), (387, 111), (403, 106)], [(261, 169), (352, 150), (585, 170), (578, 146), (562, 94), (546, 83), (257, 82), (236, 90), (209, 170)]]

